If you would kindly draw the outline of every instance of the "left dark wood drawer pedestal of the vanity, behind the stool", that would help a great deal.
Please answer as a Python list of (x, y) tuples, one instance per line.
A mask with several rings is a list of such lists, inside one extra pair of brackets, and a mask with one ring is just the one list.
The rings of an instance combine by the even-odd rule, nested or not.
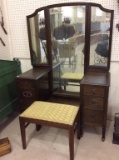
[(20, 112), (36, 100), (45, 101), (49, 99), (51, 96), (49, 74), (50, 70), (48, 68), (34, 68), (16, 78), (21, 104)]

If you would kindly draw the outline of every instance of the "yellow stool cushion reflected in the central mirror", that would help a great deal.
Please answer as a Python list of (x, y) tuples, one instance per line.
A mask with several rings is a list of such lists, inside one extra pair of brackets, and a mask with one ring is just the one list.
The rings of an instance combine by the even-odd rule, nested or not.
[(66, 72), (64, 73), (61, 78), (62, 79), (71, 79), (71, 80), (81, 80), (83, 78), (83, 73), (70, 73)]

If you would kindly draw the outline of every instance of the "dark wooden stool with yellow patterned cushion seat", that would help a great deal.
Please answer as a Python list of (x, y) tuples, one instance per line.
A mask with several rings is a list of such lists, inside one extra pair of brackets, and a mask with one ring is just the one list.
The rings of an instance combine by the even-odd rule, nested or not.
[(79, 107), (76, 106), (41, 101), (34, 102), (19, 116), (23, 149), (26, 149), (25, 128), (29, 123), (35, 123), (36, 126), (46, 125), (62, 128), (69, 131), (70, 160), (74, 160), (74, 132), (76, 126), (78, 126), (77, 134), (80, 138), (79, 114)]

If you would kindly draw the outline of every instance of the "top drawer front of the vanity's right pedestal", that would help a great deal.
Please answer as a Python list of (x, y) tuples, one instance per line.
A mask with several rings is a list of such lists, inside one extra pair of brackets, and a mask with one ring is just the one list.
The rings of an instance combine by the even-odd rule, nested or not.
[(84, 86), (84, 94), (93, 95), (93, 96), (102, 96), (105, 95), (105, 89), (101, 86)]

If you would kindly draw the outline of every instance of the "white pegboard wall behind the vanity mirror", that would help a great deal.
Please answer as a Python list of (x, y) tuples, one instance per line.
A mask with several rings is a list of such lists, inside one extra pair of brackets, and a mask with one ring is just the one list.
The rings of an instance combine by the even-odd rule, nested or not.
[[(35, 9), (42, 6), (73, 2), (74, 0), (0, 0), (2, 6), (5, 27), (8, 35), (5, 35), (0, 28), (0, 37), (5, 41), (4, 47), (0, 43), (0, 59), (19, 58), (22, 64), (22, 71), (30, 69), (30, 54), (27, 36), (26, 16), (33, 13)], [(116, 24), (119, 23), (119, 4), (117, 0), (75, 0), (74, 2), (95, 2), (103, 7), (114, 10), (113, 45), (111, 62), (111, 86), (109, 94), (108, 115), (119, 112), (119, 32)], [(117, 61), (117, 62), (114, 62)]]

